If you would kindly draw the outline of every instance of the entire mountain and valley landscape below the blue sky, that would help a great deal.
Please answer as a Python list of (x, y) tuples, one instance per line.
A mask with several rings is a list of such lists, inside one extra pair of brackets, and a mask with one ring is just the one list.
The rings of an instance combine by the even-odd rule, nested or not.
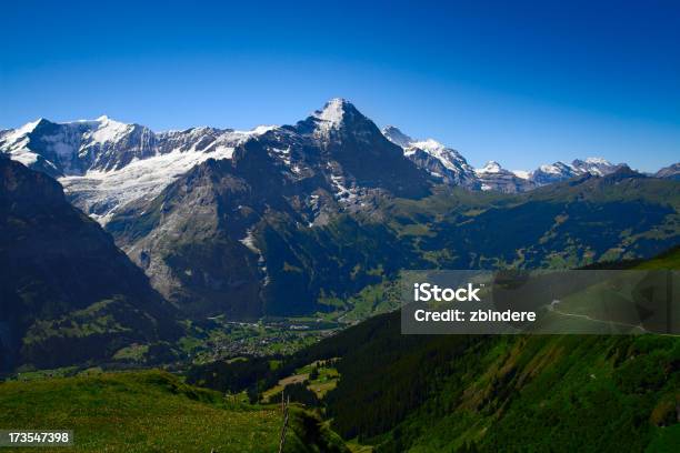
[(476, 169), (342, 99), (0, 131), (0, 424), (83, 452), (678, 451), (677, 336), (402, 335), (397, 279), (679, 269), (679, 174)]

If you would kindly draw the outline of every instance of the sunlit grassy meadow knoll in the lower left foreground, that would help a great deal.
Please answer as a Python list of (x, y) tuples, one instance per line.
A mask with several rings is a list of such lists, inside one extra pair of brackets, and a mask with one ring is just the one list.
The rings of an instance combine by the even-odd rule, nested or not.
[[(227, 402), (161, 371), (0, 383), (0, 429), (73, 430), (76, 452), (274, 452), (281, 429), (276, 405)], [(288, 452), (343, 451), (300, 409), (290, 427)]]

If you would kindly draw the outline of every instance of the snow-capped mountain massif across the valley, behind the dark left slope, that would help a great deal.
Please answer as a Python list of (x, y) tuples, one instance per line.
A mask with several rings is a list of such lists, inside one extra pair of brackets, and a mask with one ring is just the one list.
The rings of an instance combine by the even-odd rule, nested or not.
[[(657, 202), (657, 192), (672, 198), (672, 181), (638, 181), (593, 159), (476, 170), (434, 140), (381, 132), (342, 99), (252, 131), (41, 120), (0, 132), (0, 151), (58, 175), (68, 199), (191, 318), (308, 314), (399, 269), (576, 265), (677, 239), (676, 208)], [(589, 205), (564, 197), (614, 174), (626, 181), (616, 191), (637, 181), (644, 201), (607, 184), (593, 190), (608, 198)], [(579, 226), (591, 221), (607, 233)]]

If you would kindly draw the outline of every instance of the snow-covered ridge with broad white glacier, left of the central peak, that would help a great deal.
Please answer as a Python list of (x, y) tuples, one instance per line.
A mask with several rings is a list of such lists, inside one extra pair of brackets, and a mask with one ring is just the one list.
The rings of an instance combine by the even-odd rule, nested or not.
[(208, 159), (231, 158), (238, 143), (271, 129), (154, 133), (107, 117), (67, 123), (40, 119), (0, 132), (0, 152), (57, 178), (73, 204), (106, 223), (128, 202), (154, 197)]

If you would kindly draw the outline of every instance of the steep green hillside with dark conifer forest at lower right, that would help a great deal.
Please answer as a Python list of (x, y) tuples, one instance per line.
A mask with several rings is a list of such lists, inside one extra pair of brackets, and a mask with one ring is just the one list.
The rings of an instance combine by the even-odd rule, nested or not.
[(338, 365), (328, 412), (378, 451), (680, 449), (679, 338), (404, 338), (394, 314), (329, 340), (363, 336)]

